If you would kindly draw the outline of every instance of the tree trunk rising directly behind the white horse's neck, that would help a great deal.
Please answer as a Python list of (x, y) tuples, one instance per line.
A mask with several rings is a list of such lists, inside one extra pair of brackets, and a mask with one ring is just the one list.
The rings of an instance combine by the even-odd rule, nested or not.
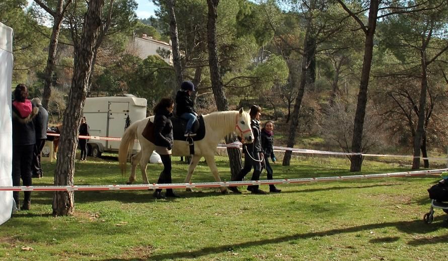
[[(208, 21), (207, 21), (207, 45), (208, 45), (208, 64), (210, 68), (211, 89), (213, 90), (214, 100), (218, 111), (228, 111), (229, 105), (224, 93), (221, 74), (219, 72), (219, 61), (216, 45), (216, 18), (219, 0), (207, 0)], [(235, 134), (226, 137), (226, 142), (235, 142)], [(243, 167), (241, 161), (241, 151), (235, 148), (228, 148), (230, 170), (232, 178), (240, 172)]]

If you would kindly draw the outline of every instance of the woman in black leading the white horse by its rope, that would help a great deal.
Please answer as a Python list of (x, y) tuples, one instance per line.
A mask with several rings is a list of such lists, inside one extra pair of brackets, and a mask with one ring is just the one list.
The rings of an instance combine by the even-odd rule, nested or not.
[[(251, 116), (251, 128), (254, 133), (254, 142), (243, 146), (244, 166), (233, 181), (242, 181), (252, 167), (254, 167), (254, 172), (252, 173), (251, 181), (260, 180), (261, 162), (263, 161), (259, 121), (261, 116), (261, 107), (252, 105), (249, 115)], [(241, 193), (237, 187), (229, 187), (229, 189), (234, 193)], [(266, 192), (258, 188), (258, 185), (250, 185), (247, 187), (247, 190), (253, 194), (266, 194)]]

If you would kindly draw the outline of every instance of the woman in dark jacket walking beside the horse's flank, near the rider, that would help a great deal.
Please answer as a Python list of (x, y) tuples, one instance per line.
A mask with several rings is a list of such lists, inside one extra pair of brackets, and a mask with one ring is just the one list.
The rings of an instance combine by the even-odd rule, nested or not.
[[(163, 98), (154, 108), (154, 144), (156, 152), (160, 154), (163, 163), (163, 171), (160, 173), (159, 184), (171, 183), (171, 149), (173, 148), (173, 124), (170, 117), (173, 116), (174, 101), (171, 98)], [(164, 199), (162, 189), (154, 193), (156, 199)], [(166, 197), (177, 197), (173, 189), (167, 189)]]

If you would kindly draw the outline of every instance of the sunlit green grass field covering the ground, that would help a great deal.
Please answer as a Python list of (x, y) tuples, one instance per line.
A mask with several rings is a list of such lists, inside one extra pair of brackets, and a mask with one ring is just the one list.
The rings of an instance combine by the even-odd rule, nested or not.
[[(183, 182), (187, 165), (177, 160), (173, 157), (173, 182)], [(230, 180), (228, 159), (216, 160), (221, 178)], [(299, 157), (291, 163), (275, 164), (274, 178), (353, 175), (341, 158)], [(44, 178), (34, 179), (34, 185), (52, 185), (54, 167), (45, 163)], [(157, 181), (161, 170), (160, 165), (148, 166), (150, 182)], [(366, 161), (362, 173), (405, 170)], [(137, 179), (138, 184), (139, 173)], [(75, 185), (126, 180), (113, 158), (76, 162)], [(0, 226), (0, 259), (445, 260), (446, 215), (436, 209), (432, 224), (422, 220), (430, 206), (426, 189), (437, 180), (424, 176), (283, 185), (278, 186), (280, 194), (269, 195), (203, 189), (177, 191), (181, 198), (159, 201), (151, 191), (76, 192), (74, 215), (57, 218), (51, 216), (52, 193), (34, 192), (32, 209), (17, 212)], [(201, 162), (192, 182), (210, 181)]]

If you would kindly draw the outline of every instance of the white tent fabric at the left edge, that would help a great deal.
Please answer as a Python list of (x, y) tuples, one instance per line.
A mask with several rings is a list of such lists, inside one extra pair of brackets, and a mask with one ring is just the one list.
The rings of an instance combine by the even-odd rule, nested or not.
[[(13, 29), (0, 23), (0, 186), (13, 186), (12, 74)], [(11, 218), (12, 210), (13, 192), (0, 191), (0, 224)]]

